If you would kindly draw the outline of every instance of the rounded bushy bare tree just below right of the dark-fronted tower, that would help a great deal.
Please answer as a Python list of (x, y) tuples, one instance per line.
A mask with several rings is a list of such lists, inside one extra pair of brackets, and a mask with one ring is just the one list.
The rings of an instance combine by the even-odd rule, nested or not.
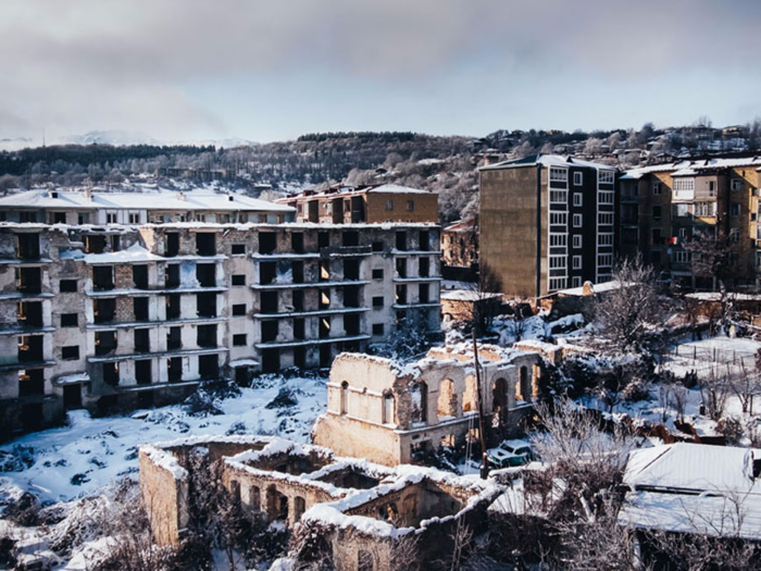
[(641, 351), (652, 327), (663, 320), (664, 303), (652, 268), (640, 257), (624, 259), (613, 270), (619, 287), (596, 299), (599, 337), (615, 352)]

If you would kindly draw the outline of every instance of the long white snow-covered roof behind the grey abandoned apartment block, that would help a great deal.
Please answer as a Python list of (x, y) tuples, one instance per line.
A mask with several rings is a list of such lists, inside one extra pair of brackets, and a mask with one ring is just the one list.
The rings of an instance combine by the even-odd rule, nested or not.
[[(232, 200), (230, 200), (232, 198)], [(142, 193), (78, 193), (33, 189), (0, 198), (0, 208), (40, 208), (59, 210), (221, 210), (257, 212), (294, 212), (292, 207), (239, 194), (209, 190), (152, 190)]]

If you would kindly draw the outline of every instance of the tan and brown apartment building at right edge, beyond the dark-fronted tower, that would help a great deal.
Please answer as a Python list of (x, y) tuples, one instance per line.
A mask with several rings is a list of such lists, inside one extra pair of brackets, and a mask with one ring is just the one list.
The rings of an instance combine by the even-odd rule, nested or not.
[(712, 288), (693, 275), (684, 244), (697, 234), (726, 236), (733, 247), (733, 286), (758, 286), (758, 189), (761, 158), (708, 158), (634, 169), (621, 177), (621, 250), (641, 252), (663, 277)]

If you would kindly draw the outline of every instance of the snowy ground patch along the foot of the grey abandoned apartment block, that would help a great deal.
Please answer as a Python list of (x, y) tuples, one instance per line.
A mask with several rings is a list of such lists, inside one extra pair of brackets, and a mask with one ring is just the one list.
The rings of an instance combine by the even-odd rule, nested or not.
[[(100, 419), (75, 411), (67, 426), (27, 434), (0, 446), (0, 468), (4, 462), (5, 470), (16, 470), (0, 479), (0, 496), (14, 494), (14, 486), (43, 501), (97, 494), (123, 476), (137, 477), (138, 446), (183, 435), (275, 434), (308, 442), (326, 401), (322, 378), (262, 377), (254, 388), (242, 388), (238, 397), (215, 400), (222, 412), (216, 415), (192, 415), (183, 405)], [(15, 461), (17, 458), (25, 463)]]

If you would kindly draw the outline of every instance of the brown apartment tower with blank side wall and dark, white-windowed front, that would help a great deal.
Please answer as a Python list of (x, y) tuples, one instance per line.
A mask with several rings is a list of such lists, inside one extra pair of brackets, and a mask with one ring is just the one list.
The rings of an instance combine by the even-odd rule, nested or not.
[(610, 280), (617, 247), (614, 167), (540, 154), (479, 173), (479, 261), (506, 294), (537, 298)]

